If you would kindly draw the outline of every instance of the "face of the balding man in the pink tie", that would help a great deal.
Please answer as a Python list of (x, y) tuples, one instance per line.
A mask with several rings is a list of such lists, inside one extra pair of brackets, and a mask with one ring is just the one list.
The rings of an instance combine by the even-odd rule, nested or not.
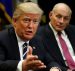
[(56, 31), (64, 30), (70, 22), (71, 15), (65, 9), (58, 9), (49, 14), (51, 24)]

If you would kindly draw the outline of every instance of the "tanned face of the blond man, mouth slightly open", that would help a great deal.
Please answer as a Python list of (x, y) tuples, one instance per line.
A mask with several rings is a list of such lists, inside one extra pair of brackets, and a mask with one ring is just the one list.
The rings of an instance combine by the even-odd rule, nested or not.
[(41, 16), (38, 14), (31, 13), (21, 15), (14, 22), (14, 28), (17, 35), (24, 41), (32, 39), (37, 31), (40, 17)]

